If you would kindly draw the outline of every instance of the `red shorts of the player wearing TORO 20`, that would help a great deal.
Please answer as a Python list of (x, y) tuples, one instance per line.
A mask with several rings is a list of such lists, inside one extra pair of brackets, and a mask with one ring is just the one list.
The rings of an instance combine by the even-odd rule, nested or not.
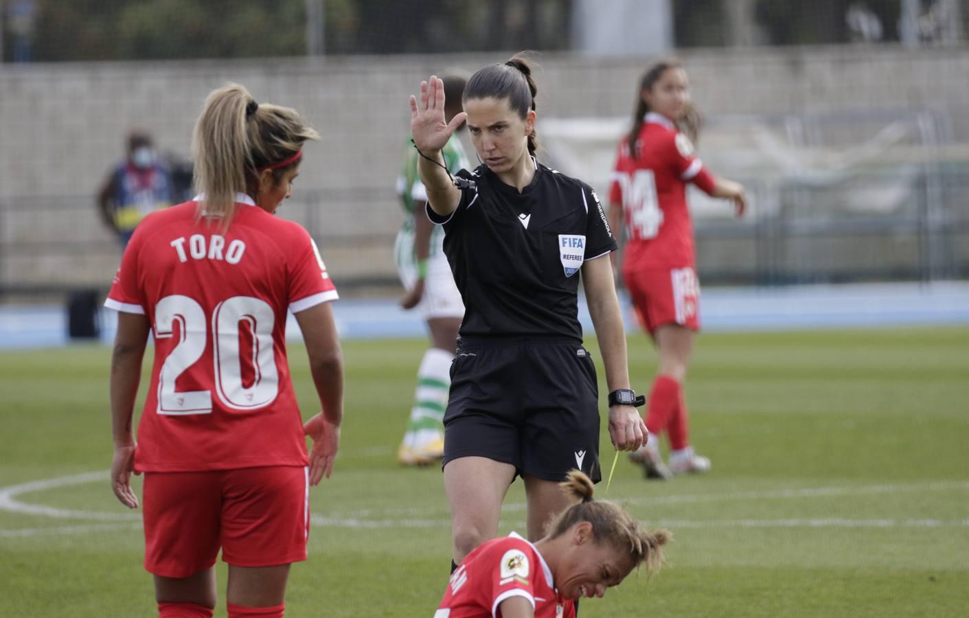
[(306, 559), (306, 468), (148, 472), (142, 491), (144, 568), (187, 577), (222, 560), (272, 567)]

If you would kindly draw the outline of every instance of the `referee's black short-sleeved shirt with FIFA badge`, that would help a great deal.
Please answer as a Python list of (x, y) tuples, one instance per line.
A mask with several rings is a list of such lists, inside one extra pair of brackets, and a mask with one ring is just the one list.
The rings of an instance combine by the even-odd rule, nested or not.
[(606, 213), (584, 182), (535, 162), (519, 194), (487, 166), (460, 170), (476, 183), (461, 189), (450, 216), (427, 205), (443, 225), (444, 253), (464, 301), (466, 340), (507, 337), (581, 344), (578, 278), (582, 262), (617, 246)]

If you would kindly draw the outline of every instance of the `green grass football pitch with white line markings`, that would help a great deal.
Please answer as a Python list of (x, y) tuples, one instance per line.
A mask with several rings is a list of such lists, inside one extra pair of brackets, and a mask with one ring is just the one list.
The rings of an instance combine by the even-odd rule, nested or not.
[[(965, 615), (969, 329), (703, 334), (697, 344), (687, 399), (713, 471), (647, 483), (620, 460), (608, 497), (673, 531), (671, 564), (582, 603), (582, 617)], [(441, 474), (394, 459), (423, 347), (345, 344), (342, 448), (333, 478), (311, 493), (310, 558), (293, 569), (288, 616), (430, 616), (440, 601), (450, 561)], [(0, 354), (0, 487), (107, 471), (109, 354)], [(290, 359), (308, 417), (318, 404), (302, 348)], [(655, 360), (643, 336), (630, 337), (641, 391)], [(604, 429), (607, 472), (611, 458)], [(15, 499), (94, 512), (0, 510), (0, 616), (155, 615), (137, 515), (105, 518), (127, 512), (107, 475)], [(518, 482), (502, 534), (524, 531), (522, 503)]]

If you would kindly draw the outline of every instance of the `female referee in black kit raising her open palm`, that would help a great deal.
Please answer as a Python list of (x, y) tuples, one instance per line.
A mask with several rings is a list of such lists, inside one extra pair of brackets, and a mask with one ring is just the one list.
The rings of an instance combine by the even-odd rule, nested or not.
[[(464, 112), (445, 122), (441, 80), (411, 97), (411, 135), (427, 215), (444, 227), (444, 252), (464, 301), (445, 413), (444, 482), (453, 560), (497, 534), (520, 475), (529, 539), (568, 506), (558, 482), (599, 469), (595, 365), (578, 324), (581, 273), (610, 388), (615, 448), (645, 442), (629, 388), (626, 341), (609, 259), (606, 215), (585, 183), (536, 162), (535, 82), (522, 58), (488, 65), (464, 89)], [(453, 180), (440, 150), (467, 121), (484, 162)], [(452, 566), (454, 568), (454, 565)]]

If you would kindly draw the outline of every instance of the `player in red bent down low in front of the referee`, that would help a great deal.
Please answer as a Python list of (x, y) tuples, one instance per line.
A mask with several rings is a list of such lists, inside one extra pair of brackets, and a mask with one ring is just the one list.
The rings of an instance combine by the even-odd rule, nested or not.
[(641, 530), (629, 513), (592, 500), (574, 470), (559, 483), (576, 504), (558, 513), (534, 544), (515, 533), (486, 541), (461, 562), (434, 618), (570, 618), (582, 597), (602, 597), (641, 564), (663, 564), (666, 530)]

